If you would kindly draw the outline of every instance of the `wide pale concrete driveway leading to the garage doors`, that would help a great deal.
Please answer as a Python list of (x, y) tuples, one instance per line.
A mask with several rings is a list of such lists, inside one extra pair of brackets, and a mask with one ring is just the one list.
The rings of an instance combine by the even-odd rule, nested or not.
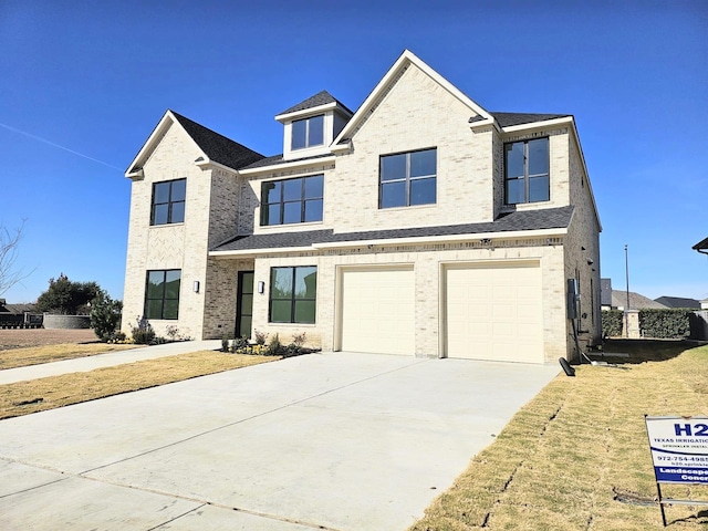
[(558, 366), (311, 354), (0, 421), (3, 530), (403, 530)]

